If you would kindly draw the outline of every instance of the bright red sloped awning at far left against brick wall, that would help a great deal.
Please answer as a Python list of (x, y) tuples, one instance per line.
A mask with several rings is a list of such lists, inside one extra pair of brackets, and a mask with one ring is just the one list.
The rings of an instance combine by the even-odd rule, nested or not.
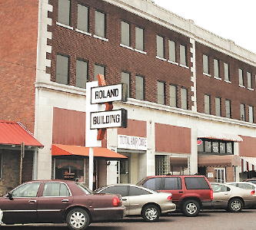
[(43, 147), (21, 123), (0, 120), (0, 144)]

